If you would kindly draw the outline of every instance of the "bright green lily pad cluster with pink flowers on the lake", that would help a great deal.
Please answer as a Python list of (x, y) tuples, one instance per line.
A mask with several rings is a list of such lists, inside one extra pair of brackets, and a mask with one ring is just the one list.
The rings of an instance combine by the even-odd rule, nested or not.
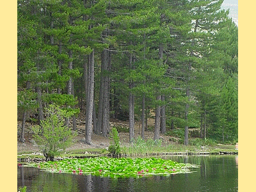
[(151, 158), (109, 158), (65, 159), (31, 164), (46, 172), (92, 174), (102, 177), (142, 177), (147, 175), (170, 175), (189, 173), (191, 164)]

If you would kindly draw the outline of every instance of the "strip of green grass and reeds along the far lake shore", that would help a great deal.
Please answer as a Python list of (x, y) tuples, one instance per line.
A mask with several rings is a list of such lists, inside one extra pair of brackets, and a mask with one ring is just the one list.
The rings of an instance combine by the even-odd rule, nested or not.
[[(201, 145), (201, 144), (211, 144), (211, 145)], [(200, 145), (188, 145), (184, 146), (177, 142), (172, 142), (172, 144), (166, 144), (159, 142), (154, 142), (154, 140), (142, 140), (140, 137), (134, 140), (133, 144), (128, 146), (124, 146), (121, 144), (121, 154), (125, 154), (126, 156), (151, 156), (162, 153), (191, 153), (198, 154), (200, 152), (208, 152), (209, 154), (218, 154), (219, 152), (238, 152), (235, 150), (234, 145), (217, 145), (212, 144), (211, 140), (202, 140), (200, 141)], [(62, 153), (58, 157), (97, 157), (97, 156), (105, 156), (108, 155), (108, 150), (104, 148), (81, 148), (81, 149), (72, 149), (67, 150)], [(33, 154), (32, 151), (28, 152), (19, 152), (18, 159), (33, 159), (39, 158), (44, 159), (44, 156), (39, 156), (37, 154)]]

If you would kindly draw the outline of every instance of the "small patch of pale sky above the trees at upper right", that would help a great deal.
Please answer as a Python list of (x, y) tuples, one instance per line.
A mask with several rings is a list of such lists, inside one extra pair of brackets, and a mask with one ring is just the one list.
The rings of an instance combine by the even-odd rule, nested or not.
[(224, 0), (221, 8), (228, 10), (228, 16), (232, 18), (232, 20), (238, 26), (238, 0)]

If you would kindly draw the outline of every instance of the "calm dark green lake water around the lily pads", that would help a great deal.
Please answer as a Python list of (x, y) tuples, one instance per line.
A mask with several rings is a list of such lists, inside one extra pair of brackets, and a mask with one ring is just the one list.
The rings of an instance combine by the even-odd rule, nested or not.
[(27, 191), (238, 191), (238, 156), (164, 156), (180, 163), (200, 165), (193, 173), (135, 178), (45, 173), (18, 167), (18, 188)]

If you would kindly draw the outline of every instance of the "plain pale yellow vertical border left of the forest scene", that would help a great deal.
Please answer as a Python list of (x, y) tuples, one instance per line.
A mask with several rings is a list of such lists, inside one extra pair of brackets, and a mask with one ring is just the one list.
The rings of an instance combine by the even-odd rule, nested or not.
[(17, 191), (17, 1), (0, 9), (1, 191)]

